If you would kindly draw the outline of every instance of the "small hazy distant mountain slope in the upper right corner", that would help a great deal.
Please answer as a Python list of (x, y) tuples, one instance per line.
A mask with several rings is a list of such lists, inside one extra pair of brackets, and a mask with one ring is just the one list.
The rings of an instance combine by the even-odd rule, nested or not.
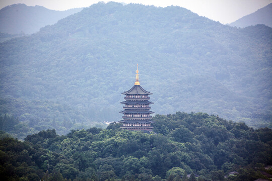
[(233, 23), (230, 23), (229, 25), (244, 28), (257, 24), (264, 24), (268, 27), (272, 27), (272, 3), (257, 10), (254, 13), (251, 13)]

